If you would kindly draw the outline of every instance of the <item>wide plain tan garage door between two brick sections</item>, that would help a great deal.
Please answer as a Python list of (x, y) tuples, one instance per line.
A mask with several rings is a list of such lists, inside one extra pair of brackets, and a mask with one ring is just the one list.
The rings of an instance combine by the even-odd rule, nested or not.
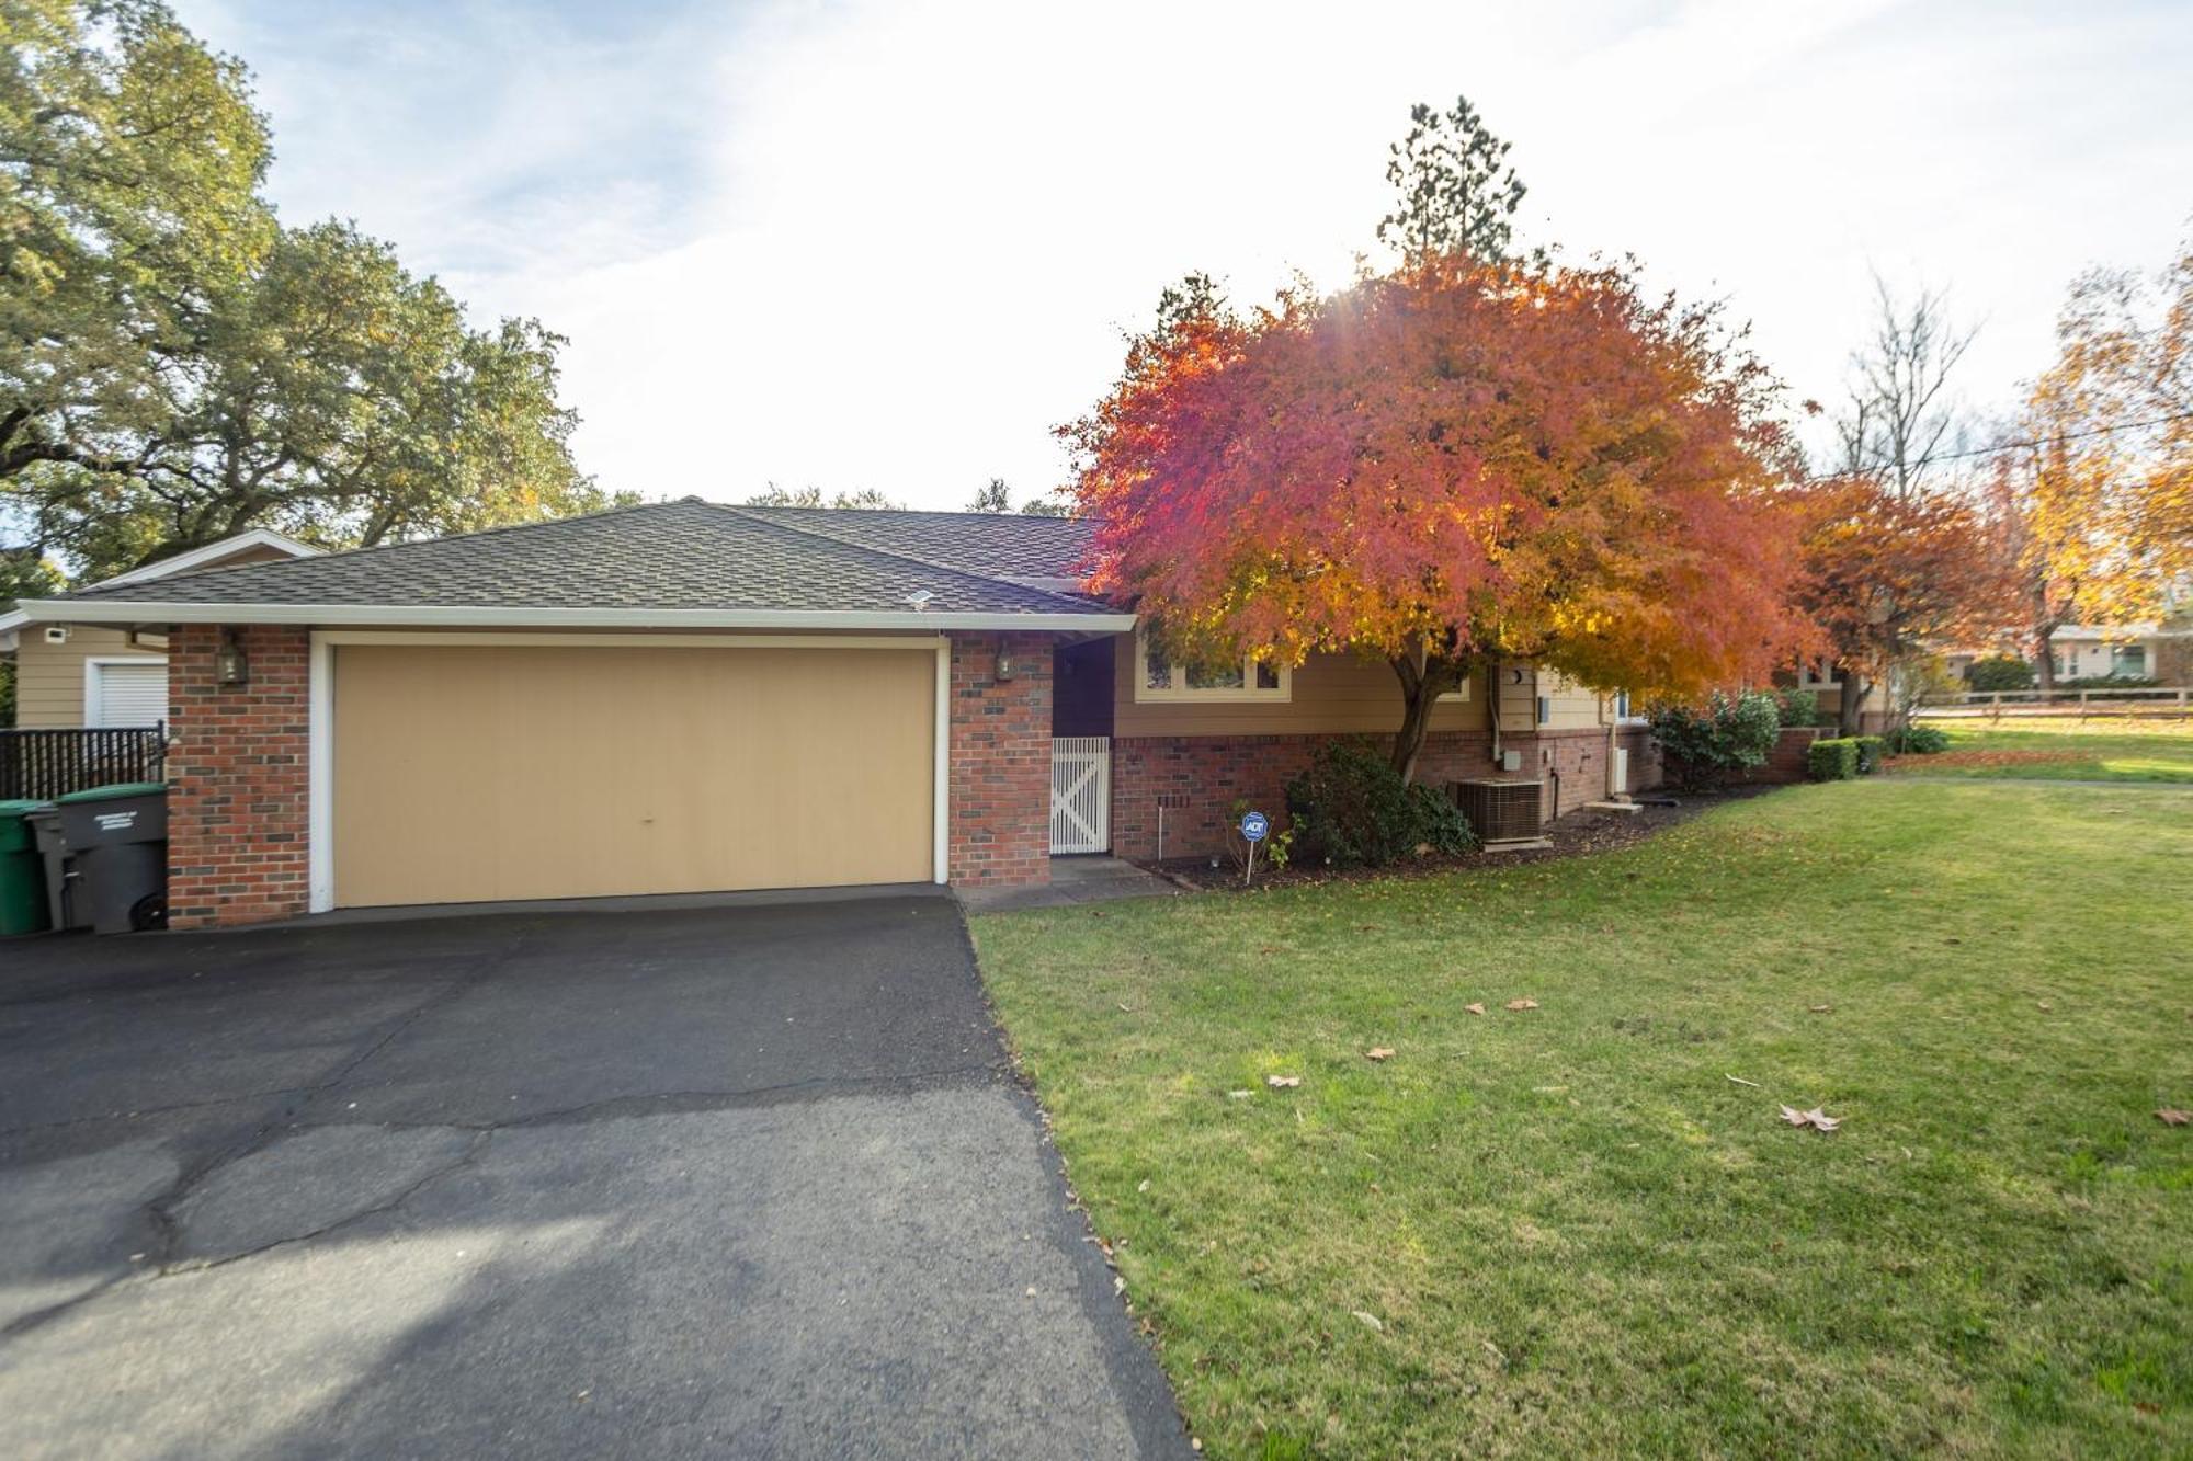
[(336, 904), (928, 882), (936, 654), (338, 645)]

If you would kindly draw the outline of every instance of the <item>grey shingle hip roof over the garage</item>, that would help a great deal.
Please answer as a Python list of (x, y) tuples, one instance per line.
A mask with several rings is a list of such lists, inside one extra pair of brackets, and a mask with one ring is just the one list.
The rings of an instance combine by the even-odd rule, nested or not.
[(1105, 614), (1072, 577), (1088, 524), (684, 498), (72, 594), (75, 601)]

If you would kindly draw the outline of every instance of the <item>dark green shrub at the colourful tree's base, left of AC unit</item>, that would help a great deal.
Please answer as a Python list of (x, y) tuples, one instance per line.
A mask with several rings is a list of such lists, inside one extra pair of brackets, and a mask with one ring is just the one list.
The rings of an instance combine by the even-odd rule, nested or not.
[(1393, 763), (1362, 741), (1329, 741), (1287, 783), (1294, 856), (1333, 867), (1386, 867), (1419, 847), (1465, 853), (1478, 845), (1461, 807), (1428, 785), (1401, 781)]

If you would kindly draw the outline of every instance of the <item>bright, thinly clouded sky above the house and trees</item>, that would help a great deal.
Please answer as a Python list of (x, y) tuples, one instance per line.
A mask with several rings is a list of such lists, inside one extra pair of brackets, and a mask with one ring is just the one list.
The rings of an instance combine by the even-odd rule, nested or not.
[(2007, 408), (2070, 276), (2193, 215), (2184, 0), (178, 9), (257, 72), (283, 217), (570, 336), (579, 461), (645, 496), (1057, 485), (1167, 281), (1347, 281), (1419, 99), (1513, 140), (1531, 241), (1726, 298), (1798, 397), (1879, 268)]

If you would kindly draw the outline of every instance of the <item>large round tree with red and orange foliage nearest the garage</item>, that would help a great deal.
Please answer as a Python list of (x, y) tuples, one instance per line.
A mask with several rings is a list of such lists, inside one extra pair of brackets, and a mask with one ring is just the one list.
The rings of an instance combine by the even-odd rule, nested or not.
[(1476, 665), (1695, 695), (1809, 647), (1772, 382), (1715, 309), (1456, 259), (1252, 316), (1197, 285), (1061, 428), (1096, 586), (1178, 652), (1388, 658), (1408, 770)]

